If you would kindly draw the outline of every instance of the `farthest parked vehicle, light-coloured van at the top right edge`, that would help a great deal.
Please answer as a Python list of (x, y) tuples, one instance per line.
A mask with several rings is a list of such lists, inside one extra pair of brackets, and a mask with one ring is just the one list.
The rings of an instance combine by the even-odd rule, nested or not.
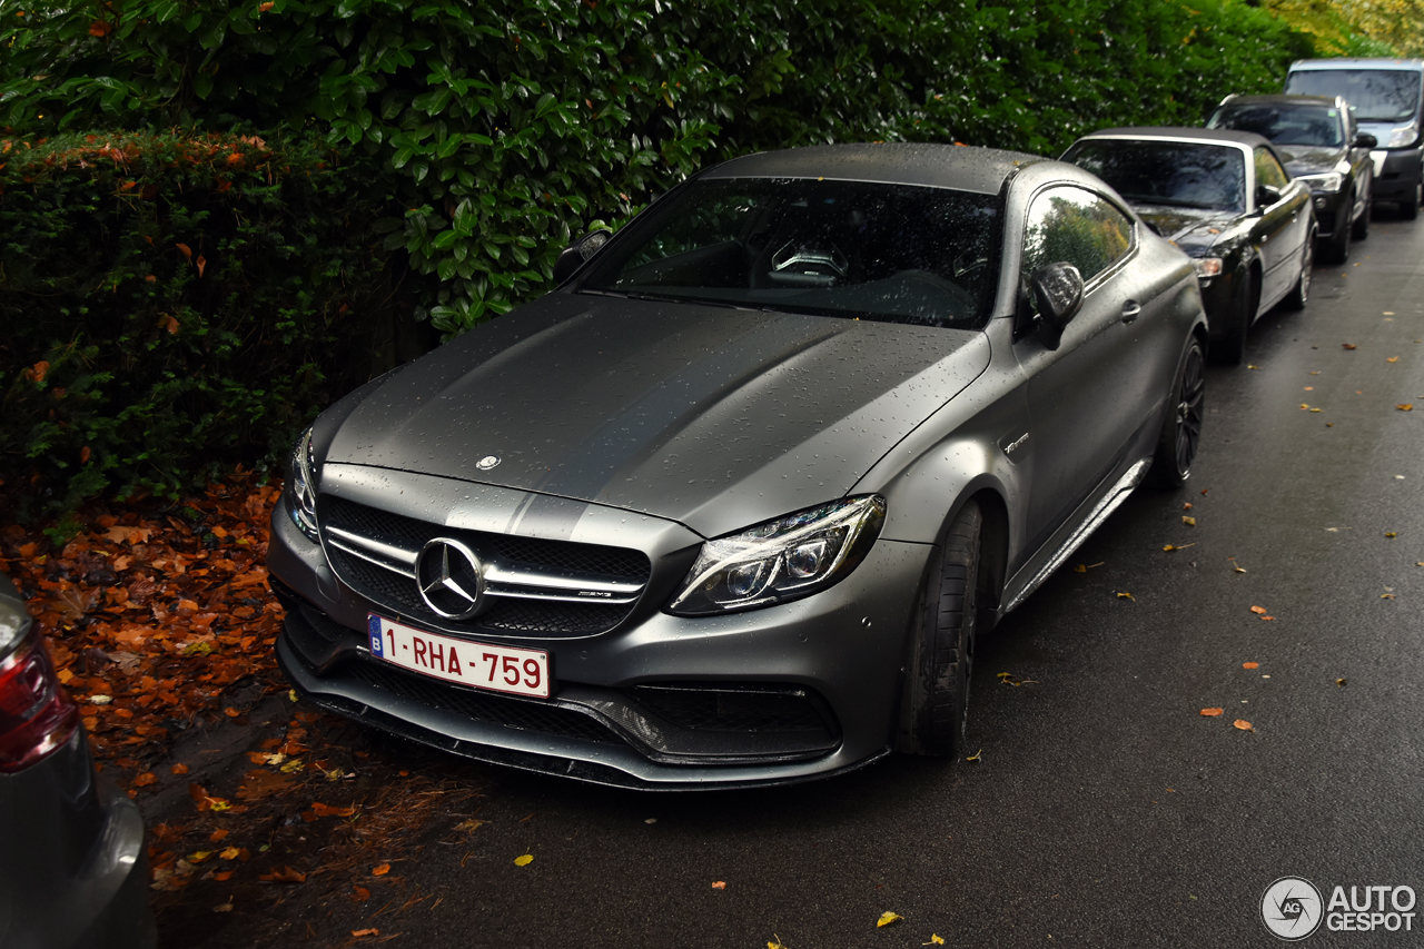
[(1424, 201), (1424, 60), (1299, 60), (1286, 74), (1293, 95), (1336, 95), (1374, 135), (1373, 195), (1413, 221)]

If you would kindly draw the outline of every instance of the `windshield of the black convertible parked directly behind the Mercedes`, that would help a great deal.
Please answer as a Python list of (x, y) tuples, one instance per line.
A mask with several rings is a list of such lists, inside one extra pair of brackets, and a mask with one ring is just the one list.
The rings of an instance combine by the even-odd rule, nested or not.
[(1185, 141), (1091, 138), (1064, 152), (1132, 204), (1245, 211), (1242, 150)]

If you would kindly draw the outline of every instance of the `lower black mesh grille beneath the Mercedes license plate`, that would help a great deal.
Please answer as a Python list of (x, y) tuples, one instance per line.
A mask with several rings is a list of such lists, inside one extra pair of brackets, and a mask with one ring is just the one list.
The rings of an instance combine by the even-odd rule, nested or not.
[(474, 721), (544, 735), (558, 735), (561, 738), (622, 744), (618, 735), (597, 718), (570, 711), (560, 705), (491, 693), (476, 693), (460, 685), (436, 683), (416, 673), (404, 673), (370, 660), (355, 660), (352, 664), (355, 665), (353, 678), (420, 702), (422, 705), (459, 712)]

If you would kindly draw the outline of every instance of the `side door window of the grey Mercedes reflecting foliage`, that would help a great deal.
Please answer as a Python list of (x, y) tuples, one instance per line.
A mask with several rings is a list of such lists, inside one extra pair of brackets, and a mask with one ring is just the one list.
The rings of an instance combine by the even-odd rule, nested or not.
[(1131, 218), (1091, 191), (1049, 188), (1028, 207), (1022, 275), (1028, 279), (1045, 264), (1068, 261), (1091, 281), (1129, 249)]

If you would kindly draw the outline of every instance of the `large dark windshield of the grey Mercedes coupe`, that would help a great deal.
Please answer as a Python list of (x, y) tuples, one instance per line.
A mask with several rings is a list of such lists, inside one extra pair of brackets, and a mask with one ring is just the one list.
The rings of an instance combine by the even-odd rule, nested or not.
[(693, 181), (639, 215), (578, 291), (977, 329), (1000, 205), (859, 181)]

